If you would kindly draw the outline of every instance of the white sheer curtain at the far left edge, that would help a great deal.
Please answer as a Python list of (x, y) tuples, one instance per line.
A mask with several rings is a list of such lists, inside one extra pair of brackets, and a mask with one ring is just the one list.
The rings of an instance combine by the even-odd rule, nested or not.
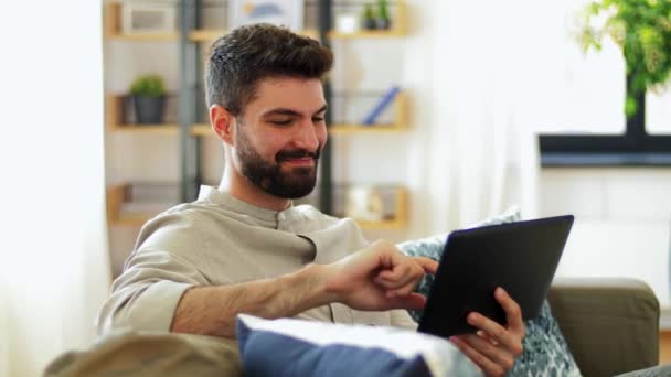
[(0, 376), (88, 345), (109, 287), (102, 2), (0, 12)]

